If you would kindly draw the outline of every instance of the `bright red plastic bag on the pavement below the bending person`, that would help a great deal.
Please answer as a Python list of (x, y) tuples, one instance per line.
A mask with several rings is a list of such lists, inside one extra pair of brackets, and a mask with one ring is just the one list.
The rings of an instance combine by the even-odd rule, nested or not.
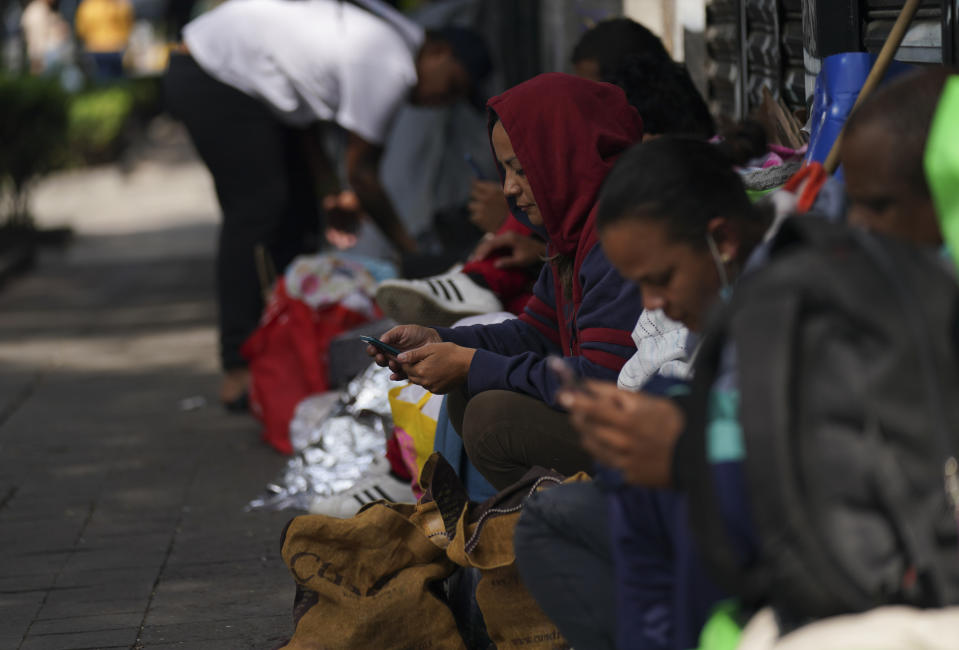
[(305, 397), (329, 389), (330, 341), (369, 320), (339, 303), (312, 309), (277, 281), (260, 326), (240, 349), (250, 364), (250, 408), (263, 422), (264, 441), (293, 453), (293, 411)]

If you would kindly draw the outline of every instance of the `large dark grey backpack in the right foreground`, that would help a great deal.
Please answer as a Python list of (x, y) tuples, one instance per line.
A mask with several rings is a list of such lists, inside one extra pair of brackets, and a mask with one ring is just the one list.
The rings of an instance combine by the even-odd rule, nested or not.
[[(901, 242), (788, 220), (707, 328), (681, 469), (714, 577), (793, 620), (959, 604), (959, 285)], [(729, 345), (732, 347), (727, 347)], [(735, 351), (748, 510), (743, 566), (706, 455)]]

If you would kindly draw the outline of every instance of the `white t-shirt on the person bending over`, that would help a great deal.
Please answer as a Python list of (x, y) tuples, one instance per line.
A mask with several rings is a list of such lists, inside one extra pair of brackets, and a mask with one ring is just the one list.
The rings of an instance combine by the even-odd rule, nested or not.
[(383, 11), (390, 22), (340, 0), (228, 0), (190, 22), (183, 40), (210, 76), (284, 122), (333, 121), (382, 144), (416, 85), (423, 40), (417, 25)]

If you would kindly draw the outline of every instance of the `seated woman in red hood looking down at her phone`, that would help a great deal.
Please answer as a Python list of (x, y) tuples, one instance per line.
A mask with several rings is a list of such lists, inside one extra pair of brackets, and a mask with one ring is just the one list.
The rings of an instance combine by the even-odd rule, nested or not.
[(639, 292), (613, 269), (596, 236), (596, 197), (621, 153), (642, 138), (622, 90), (570, 75), (540, 75), (488, 103), (490, 143), (513, 215), (547, 241), (533, 297), (496, 325), (401, 325), (368, 349), (394, 379), (449, 393), (467, 455), (497, 489), (535, 465), (592, 468), (566, 413), (550, 355), (584, 377), (615, 380), (635, 351)]

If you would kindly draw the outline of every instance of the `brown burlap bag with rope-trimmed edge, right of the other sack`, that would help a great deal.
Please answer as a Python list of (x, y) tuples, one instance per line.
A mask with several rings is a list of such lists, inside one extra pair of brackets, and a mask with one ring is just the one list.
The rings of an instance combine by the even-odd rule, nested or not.
[[(585, 478), (581, 473), (569, 481)], [(456, 522), (446, 553), (460, 566), (480, 569), (476, 603), (486, 631), (499, 649), (569, 647), (523, 585), (513, 550), (513, 532), (526, 499), (537, 490), (563, 482), (555, 472), (532, 470), (489, 501), (466, 506)]]

